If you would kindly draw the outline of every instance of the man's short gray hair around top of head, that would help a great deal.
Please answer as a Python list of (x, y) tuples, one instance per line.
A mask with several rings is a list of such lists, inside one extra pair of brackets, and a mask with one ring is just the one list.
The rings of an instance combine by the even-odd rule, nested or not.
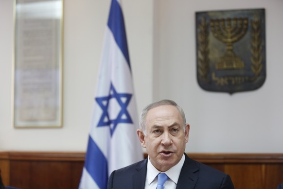
[(172, 105), (172, 106), (175, 106), (177, 108), (177, 110), (179, 111), (179, 113), (180, 113), (180, 115), (183, 119), (183, 127), (184, 127), (184, 131), (185, 131), (186, 116), (185, 116), (183, 109), (179, 105), (177, 105), (177, 103), (174, 102), (173, 100), (164, 99), (164, 100), (160, 100), (160, 101), (157, 101), (157, 102), (153, 102), (153, 103), (149, 104), (148, 106), (146, 106), (142, 110), (141, 116), (140, 116), (140, 129), (142, 130), (144, 135), (146, 135), (145, 117), (146, 117), (148, 111), (153, 109), (153, 108), (156, 108), (158, 106), (162, 106), (162, 105)]

